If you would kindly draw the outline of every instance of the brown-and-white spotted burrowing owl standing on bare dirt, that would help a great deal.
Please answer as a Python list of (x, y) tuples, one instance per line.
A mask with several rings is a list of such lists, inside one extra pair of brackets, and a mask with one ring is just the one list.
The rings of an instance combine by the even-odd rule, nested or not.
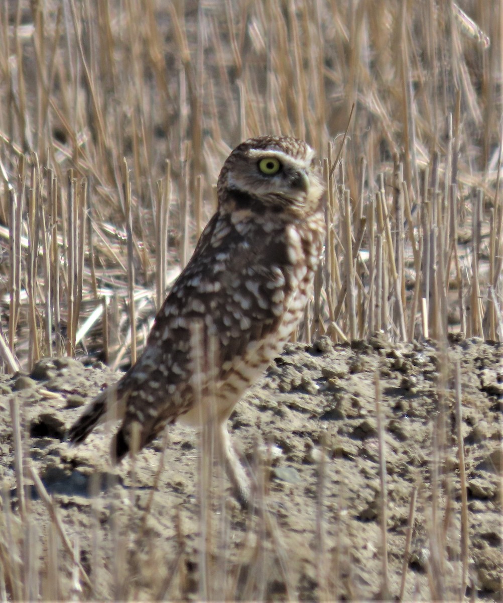
[(246, 504), (248, 478), (227, 419), (302, 317), (325, 239), (323, 183), (305, 142), (261, 136), (245, 140), (227, 158), (217, 195), (217, 211), (158, 312), (139, 360), (93, 400), (69, 438), (83, 441), (106, 418), (108, 406), (122, 419), (111, 445), (120, 461), (169, 423), (201, 426), (211, 405), (228, 476)]

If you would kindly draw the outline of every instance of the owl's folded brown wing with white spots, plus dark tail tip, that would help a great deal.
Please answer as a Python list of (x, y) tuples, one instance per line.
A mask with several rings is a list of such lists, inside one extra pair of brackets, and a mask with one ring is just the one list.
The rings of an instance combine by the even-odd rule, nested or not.
[[(207, 387), (212, 370), (216, 383), (233, 375), (234, 389), (242, 384), (237, 402), (267, 363), (263, 357), (250, 358), (258, 343), (274, 339), (283, 320), (292, 294), (289, 270), (281, 229), (213, 216), (158, 312), (145, 350), (116, 385), (114, 396), (124, 417), (112, 443), (117, 461), (130, 449), (134, 423), (140, 426), (140, 449), (190, 410), (195, 388)], [(202, 344), (202, 353), (193, 349), (195, 341)], [(208, 359), (211, 349), (216, 353)], [(104, 407), (102, 393), (72, 427), (70, 439), (83, 441)]]

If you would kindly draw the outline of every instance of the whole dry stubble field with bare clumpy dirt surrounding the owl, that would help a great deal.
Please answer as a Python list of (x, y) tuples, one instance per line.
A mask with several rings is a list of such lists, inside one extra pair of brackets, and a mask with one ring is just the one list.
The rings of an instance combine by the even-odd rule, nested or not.
[[(501, 599), (502, 10), (1, 3), (2, 600)], [(260, 133), (316, 149), (328, 235), (230, 419), (251, 513), (192, 431), (64, 434)]]

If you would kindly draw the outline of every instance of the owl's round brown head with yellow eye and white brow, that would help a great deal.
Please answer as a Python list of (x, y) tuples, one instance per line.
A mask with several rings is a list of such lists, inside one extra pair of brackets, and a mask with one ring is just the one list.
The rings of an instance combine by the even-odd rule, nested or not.
[(220, 211), (315, 212), (324, 191), (313, 149), (288, 136), (242, 142), (223, 164), (217, 185)]

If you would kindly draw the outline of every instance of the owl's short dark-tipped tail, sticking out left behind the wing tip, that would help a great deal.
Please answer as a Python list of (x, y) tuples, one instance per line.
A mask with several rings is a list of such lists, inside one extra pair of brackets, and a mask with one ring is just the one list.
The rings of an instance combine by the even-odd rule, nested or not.
[[(67, 433), (67, 439), (71, 444), (83, 442), (93, 429), (105, 420), (122, 418), (123, 404), (118, 403), (122, 397), (122, 392), (119, 391), (119, 383), (107, 387), (106, 390), (98, 394), (77, 421), (73, 423)], [(107, 409), (112, 412), (107, 412)]]

